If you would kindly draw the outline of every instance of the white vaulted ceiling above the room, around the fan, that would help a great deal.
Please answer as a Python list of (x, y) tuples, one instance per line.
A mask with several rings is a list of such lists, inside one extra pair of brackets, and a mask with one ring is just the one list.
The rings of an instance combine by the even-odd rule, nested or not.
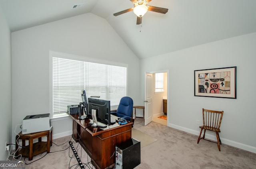
[[(81, 7), (72, 8), (76, 4)], [(152, 0), (136, 25), (130, 0), (0, 0), (11, 31), (91, 12), (112, 26), (140, 59), (256, 32), (256, 0)]]

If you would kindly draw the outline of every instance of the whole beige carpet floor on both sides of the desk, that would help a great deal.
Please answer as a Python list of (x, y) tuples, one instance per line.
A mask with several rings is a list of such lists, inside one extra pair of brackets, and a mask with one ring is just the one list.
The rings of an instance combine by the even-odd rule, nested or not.
[[(197, 144), (198, 136), (156, 122), (144, 126), (143, 119), (136, 119), (132, 131), (134, 138), (140, 140), (143, 146), (140, 151), (140, 165), (135, 169), (256, 169), (255, 153), (225, 144), (220, 145), (219, 151), (216, 143), (200, 140)], [(145, 139), (140, 136), (144, 136)], [(150, 141), (151, 143), (144, 141), (149, 138), (157, 140)], [(71, 136), (67, 136), (53, 140), (56, 144), (64, 144), (53, 145), (50, 151), (66, 149), (69, 147), (66, 141), (70, 139)], [(81, 146), (78, 143), (74, 143), (74, 146), (78, 148), (82, 163), (90, 164), (90, 157), (80, 148)], [(77, 161), (74, 157), (71, 158), (73, 153), (69, 150), (68, 148), (46, 155), (42, 153), (33, 158), (34, 163), (26, 158), (26, 163), (31, 163), (26, 165), (26, 169), (78, 169)], [(41, 157), (43, 158), (40, 159)], [(84, 166), (86, 169), (94, 169), (91, 164), (90, 167)]]

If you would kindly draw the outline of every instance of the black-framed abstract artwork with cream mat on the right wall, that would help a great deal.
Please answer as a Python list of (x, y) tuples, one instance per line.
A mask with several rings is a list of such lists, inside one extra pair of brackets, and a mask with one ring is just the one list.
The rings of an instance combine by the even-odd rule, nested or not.
[(236, 98), (236, 67), (194, 71), (194, 96)]

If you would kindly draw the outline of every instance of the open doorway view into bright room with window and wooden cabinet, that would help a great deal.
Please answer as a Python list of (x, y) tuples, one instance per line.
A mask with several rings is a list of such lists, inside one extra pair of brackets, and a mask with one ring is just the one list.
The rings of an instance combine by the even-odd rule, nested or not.
[(168, 72), (153, 73), (154, 90), (152, 101), (153, 122), (167, 126), (167, 96), (168, 96)]

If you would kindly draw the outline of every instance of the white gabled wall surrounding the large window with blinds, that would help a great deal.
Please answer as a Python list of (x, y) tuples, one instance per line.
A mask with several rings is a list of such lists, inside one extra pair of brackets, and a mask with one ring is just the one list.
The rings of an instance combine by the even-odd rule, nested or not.
[[(13, 129), (27, 115), (50, 111), (49, 51), (127, 64), (127, 95), (138, 102), (139, 59), (106, 20), (83, 14), (12, 33)], [(53, 138), (72, 134), (70, 118), (52, 126)]]

